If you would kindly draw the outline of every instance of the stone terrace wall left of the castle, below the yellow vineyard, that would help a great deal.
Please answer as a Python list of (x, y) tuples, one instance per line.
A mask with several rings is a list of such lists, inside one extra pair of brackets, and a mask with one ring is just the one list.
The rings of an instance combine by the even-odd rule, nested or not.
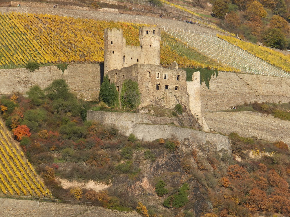
[(0, 95), (13, 92), (25, 93), (31, 86), (39, 85), (42, 89), (55, 79), (65, 79), (71, 91), (79, 98), (96, 100), (100, 90), (100, 65), (68, 65), (62, 74), (56, 66), (40, 67), (35, 72), (25, 68), (0, 69)]

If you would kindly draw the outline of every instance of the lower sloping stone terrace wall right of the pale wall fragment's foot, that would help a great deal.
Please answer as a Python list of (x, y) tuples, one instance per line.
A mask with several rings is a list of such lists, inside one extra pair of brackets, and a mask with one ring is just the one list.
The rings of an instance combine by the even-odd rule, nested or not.
[(204, 118), (210, 128), (229, 134), (237, 132), (240, 136), (284, 141), (290, 145), (290, 121), (257, 112), (205, 112)]

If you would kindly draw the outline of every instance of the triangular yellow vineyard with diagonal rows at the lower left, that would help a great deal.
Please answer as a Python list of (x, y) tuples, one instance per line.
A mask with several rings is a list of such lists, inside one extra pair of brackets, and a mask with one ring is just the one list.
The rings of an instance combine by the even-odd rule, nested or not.
[(32, 165), (24, 158), (0, 120), (0, 189), (3, 194), (22, 196), (50, 196)]

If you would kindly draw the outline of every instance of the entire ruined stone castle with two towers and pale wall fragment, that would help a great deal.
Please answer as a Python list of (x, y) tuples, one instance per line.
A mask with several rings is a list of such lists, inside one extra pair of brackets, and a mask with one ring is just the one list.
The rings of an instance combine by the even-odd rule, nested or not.
[(208, 131), (201, 113), (200, 73), (195, 72), (193, 80), (186, 82), (186, 71), (178, 69), (176, 63), (171, 68), (162, 67), (160, 40), (160, 29), (155, 27), (139, 28), (139, 47), (126, 45), (122, 30), (106, 29), (104, 74), (115, 83), (119, 93), (124, 80), (137, 82), (141, 93), (139, 108), (173, 108), (180, 103)]

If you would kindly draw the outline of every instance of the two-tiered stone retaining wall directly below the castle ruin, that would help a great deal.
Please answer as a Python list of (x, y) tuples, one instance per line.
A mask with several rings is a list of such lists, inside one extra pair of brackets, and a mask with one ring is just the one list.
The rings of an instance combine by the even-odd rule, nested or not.
[(162, 125), (166, 123), (178, 123), (178, 118), (156, 117), (148, 114), (138, 113), (115, 113), (115, 112), (97, 112), (87, 111), (87, 119), (89, 121), (98, 121), (103, 124), (114, 124), (117, 129), (126, 134), (133, 133), (138, 139), (144, 141), (153, 141), (158, 138), (176, 137), (179, 141), (188, 139), (191, 142), (200, 145), (209, 142), (213, 147), (220, 150), (222, 148), (230, 150), (229, 139), (220, 134), (205, 133), (190, 128), (175, 127)]

